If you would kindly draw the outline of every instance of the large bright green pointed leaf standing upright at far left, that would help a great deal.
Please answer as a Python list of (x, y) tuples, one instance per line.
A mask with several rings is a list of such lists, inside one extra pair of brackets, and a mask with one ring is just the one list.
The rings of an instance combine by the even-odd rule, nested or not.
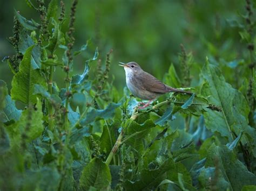
[(33, 69), (31, 66), (31, 52), (33, 47), (34, 45), (26, 50), (19, 65), (19, 72), (15, 74), (11, 82), (11, 97), (25, 104), (35, 104), (37, 102), (36, 95), (33, 94), (34, 84), (41, 84), (41, 86), (46, 87), (45, 79), (39, 69)]

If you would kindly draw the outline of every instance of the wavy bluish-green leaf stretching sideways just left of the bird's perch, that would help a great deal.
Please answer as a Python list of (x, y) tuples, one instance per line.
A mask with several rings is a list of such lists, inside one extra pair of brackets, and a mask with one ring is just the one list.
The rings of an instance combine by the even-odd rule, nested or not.
[(92, 109), (90, 112), (87, 113), (85, 119), (81, 121), (81, 125), (88, 125), (97, 120), (97, 118), (109, 119), (113, 117), (114, 111), (116, 108), (120, 106), (120, 103), (110, 103), (107, 105), (106, 109), (97, 110)]

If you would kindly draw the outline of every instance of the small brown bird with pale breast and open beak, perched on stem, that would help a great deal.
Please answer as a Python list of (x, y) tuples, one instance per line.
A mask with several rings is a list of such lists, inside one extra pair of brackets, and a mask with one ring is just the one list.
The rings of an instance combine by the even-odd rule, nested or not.
[(145, 72), (136, 62), (119, 63), (122, 63), (122, 65), (119, 66), (124, 67), (126, 85), (131, 93), (134, 96), (141, 98), (142, 100), (149, 100), (147, 103), (142, 103), (144, 106), (139, 107), (139, 109), (146, 108), (152, 100), (165, 93), (178, 92), (192, 94), (189, 91), (183, 91), (167, 86), (166, 84), (156, 79), (156, 77)]

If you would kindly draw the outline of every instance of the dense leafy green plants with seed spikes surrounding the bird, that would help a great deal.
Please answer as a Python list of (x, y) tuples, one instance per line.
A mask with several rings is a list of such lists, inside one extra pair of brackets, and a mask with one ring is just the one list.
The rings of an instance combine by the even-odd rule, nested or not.
[[(142, 110), (127, 88), (114, 86), (115, 50), (100, 56), (106, 46), (98, 50), (97, 38), (76, 49), (80, 2), (69, 14), (63, 1), (25, 2), (39, 20), (14, 11), (15, 52), (3, 60), (13, 76), (11, 84), (0, 80), (1, 190), (256, 189), (255, 1), (227, 20), (229, 36), (216, 28), (218, 46), (207, 34), (198, 39), (207, 48), (193, 51), (207, 52), (204, 61), (180, 45), (161, 80), (193, 95), (166, 94)], [(151, 58), (164, 61), (156, 58), (165, 39), (150, 35), (163, 45)], [(72, 72), (81, 60), (83, 72)]]

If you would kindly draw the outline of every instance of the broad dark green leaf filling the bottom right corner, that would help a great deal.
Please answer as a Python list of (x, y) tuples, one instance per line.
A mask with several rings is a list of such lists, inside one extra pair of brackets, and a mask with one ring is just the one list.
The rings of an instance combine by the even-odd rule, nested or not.
[(241, 190), (245, 185), (256, 185), (256, 176), (247, 170), (230, 148), (213, 143), (208, 149), (206, 166), (215, 167), (217, 164), (230, 189)]

